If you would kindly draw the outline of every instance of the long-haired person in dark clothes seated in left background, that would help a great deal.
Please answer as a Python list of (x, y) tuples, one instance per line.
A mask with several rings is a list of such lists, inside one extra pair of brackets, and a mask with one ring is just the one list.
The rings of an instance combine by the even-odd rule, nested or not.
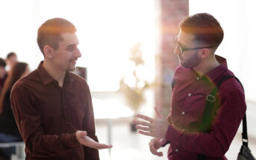
[[(10, 107), (10, 91), (13, 84), (16, 83), (19, 78), (24, 77), (28, 73), (29, 68), (27, 63), (16, 63), (9, 74), (10, 79), (4, 83), (4, 88), (0, 97), (0, 143), (22, 141), (22, 138), (19, 135), (19, 129), (17, 128), (13, 117), (13, 111)], [(0, 159), (1, 156), (10, 157), (13, 153), (15, 153), (15, 147), (1, 148)]]

